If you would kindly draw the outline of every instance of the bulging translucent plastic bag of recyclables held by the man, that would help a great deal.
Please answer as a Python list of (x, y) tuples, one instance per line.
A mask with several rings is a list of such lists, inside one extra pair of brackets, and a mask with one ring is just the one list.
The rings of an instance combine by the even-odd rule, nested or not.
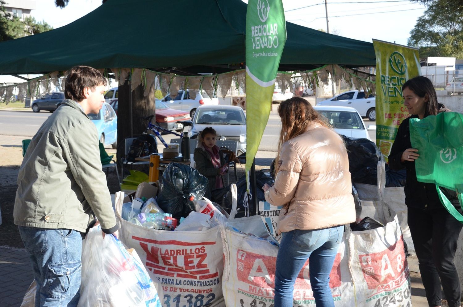
[(137, 254), (133, 256), (100, 226), (89, 230), (82, 246), (78, 307), (161, 307), (156, 288)]

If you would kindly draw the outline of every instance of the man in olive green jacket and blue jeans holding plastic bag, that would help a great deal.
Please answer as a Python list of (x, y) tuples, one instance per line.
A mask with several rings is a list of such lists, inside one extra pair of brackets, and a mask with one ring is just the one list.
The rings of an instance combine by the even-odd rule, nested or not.
[(77, 306), (82, 234), (95, 215), (103, 235), (118, 236), (97, 130), (87, 116), (100, 111), (105, 85), (98, 70), (72, 68), (67, 99), (38, 129), (19, 169), (13, 215), (37, 282), (35, 306)]

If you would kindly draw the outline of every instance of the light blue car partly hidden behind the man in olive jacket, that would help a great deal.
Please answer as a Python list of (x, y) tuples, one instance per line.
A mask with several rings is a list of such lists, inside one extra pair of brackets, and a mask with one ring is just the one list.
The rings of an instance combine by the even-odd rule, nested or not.
[(106, 146), (117, 147), (117, 115), (109, 103), (103, 102), (103, 107), (98, 114), (88, 114), (88, 118), (94, 122), (100, 142)]

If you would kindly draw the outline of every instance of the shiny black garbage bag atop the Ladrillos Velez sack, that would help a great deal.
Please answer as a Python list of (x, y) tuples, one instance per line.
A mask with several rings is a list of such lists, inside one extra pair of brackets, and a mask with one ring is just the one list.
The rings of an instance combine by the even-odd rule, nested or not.
[(204, 196), (207, 185), (207, 178), (197, 170), (185, 164), (169, 163), (163, 173), (157, 203), (175, 218), (187, 217), (194, 211), (193, 200)]

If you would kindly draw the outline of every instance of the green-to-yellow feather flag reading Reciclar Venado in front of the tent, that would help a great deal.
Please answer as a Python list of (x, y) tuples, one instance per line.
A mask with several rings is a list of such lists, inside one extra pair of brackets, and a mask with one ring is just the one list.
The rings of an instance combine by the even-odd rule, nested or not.
[(282, 0), (249, 0), (246, 12), (246, 173), (269, 120), (275, 78), (286, 42)]

